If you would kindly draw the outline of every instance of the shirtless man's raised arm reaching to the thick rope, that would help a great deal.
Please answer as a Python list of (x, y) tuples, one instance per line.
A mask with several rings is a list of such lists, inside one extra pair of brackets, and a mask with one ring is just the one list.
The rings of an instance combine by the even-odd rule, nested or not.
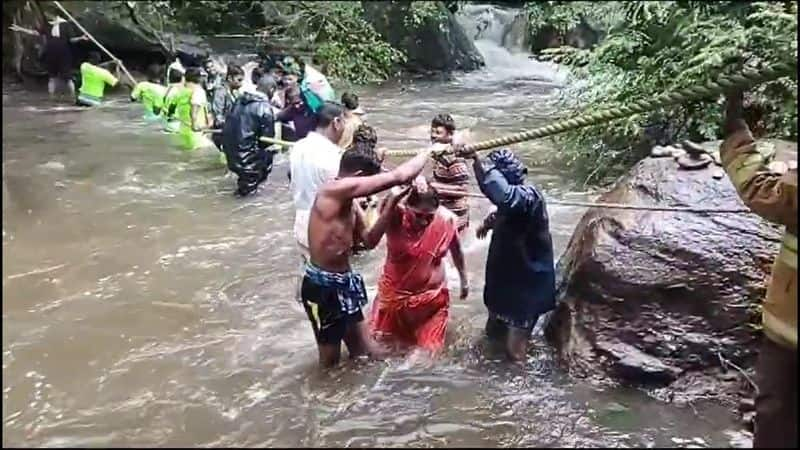
[(340, 200), (367, 197), (385, 191), (393, 186), (406, 184), (413, 180), (425, 168), (430, 150), (421, 151), (417, 156), (400, 164), (389, 172), (382, 172), (368, 177), (347, 177), (325, 185), (322, 190), (331, 197)]

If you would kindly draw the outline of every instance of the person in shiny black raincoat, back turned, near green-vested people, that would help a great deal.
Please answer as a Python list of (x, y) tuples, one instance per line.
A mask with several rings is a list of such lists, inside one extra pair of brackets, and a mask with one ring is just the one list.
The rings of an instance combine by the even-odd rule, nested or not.
[(258, 188), (272, 171), (273, 152), (261, 137), (275, 135), (275, 118), (270, 99), (277, 83), (272, 76), (258, 80), (255, 92), (243, 92), (225, 120), (222, 148), (228, 169), (239, 176), (236, 195), (246, 196)]

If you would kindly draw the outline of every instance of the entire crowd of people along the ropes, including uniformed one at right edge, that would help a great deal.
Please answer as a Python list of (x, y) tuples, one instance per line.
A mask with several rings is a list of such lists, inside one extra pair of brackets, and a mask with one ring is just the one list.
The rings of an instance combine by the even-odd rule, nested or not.
[[(52, 38), (45, 48), (49, 92), (61, 85), (74, 94), (64, 70), (71, 59), (61, 54), (69, 42)], [(448, 255), (458, 271), (459, 297), (469, 293), (461, 242), (470, 225), (472, 177), (494, 205), (475, 230), (478, 238), (491, 231), (485, 332), (509, 359), (524, 360), (534, 326), (555, 305), (555, 270), (545, 200), (526, 183), (527, 170), (511, 151), (478, 156), (454, 142), (455, 121), (439, 114), (430, 123), (430, 147), (388, 169), (358, 97), (345, 93), (336, 102), (309, 90), (303, 64), (294, 58), (254, 68), (252, 89), (245, 89), (245, 71), (233, 64), (222, 76), (213, 62), (184, 68), (176, 61), (166, 70), (165, 85), (162, 72), (148, 70), (147, 81), (131, 86), (131, 99), (142, 103), (147, 120), (160, 120), (175, 133), (183, 148), (213, 142), (238, 177), (238, 195), (255, 192), (272, 170), (275, 149), (262, 138), (296, 141), (289, 176), (293, 234), (303, 261), (298, 300), (322, 366), (340, 360), (342, 343), (351, 357), (443, 349), (451, 301)], [(80, 65), (80, 74), (77, 102), (84, 106), (100, 104), (105, 87), (119, 82), (96, 52)], [(728, 98), (722, 165), (745, 203), (786, 227), (764, 306), (755, 444), (796, 445), (797, 403), (785, 399), (797, 393), (797, 173), (769, 165), (771, 156), (755, 145), (742, 120), (741, 103), (740, 93)], [(219, 132), (209, 141), (204, 131), (211, 129)], [(428, 179), (423, 171), (431, 161)], [(370, 218), (364, 205), (381, 193)], [(365, 317), (368, 294), (351, 256), (375, 248), (384, 236), (386, 259)]]

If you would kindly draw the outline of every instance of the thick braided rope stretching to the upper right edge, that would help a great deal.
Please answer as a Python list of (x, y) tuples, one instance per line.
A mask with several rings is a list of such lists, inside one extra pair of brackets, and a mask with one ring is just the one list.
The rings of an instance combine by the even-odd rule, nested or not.
[[(584, 114), (571, 119), (564, 119), (554, 124), (535, 128), (533, 130), (522, 131), (520, 133), (510, 134), (501, 138), (489, 139), (487, 141), (469, 144), (465, 146), (465, 150), (483, 151), (546, 136), (552, 136), (565, 131), (583, 128), (590, 125), (598, 125), (601, 123), (610, 122), (614, 119), (620, 119), (623, 117), (632, 116), (634, 114), (652, 111), (656, 108), (678, 105), (689, 101), (703, 100), (724, 93), (732, 88), (747, 88), (766, 81), (774, 80), (781, 76), (790, 75), (795, 72), (796, 66), (786, 64), (778, 64), (758, 70), (745, 68), (740, 74), (725, 75), (720, 77), (717, 81), (709, 81), (703, 86), (692, 86), (675, 92), (661, 94), (653, 98), (638, 100), (627, 106), (596, 111), (594, 113)], [(419, 150), (389, 150), (386, 154), (390, 156), (414, 156), (417, 153), (419, 153)]]

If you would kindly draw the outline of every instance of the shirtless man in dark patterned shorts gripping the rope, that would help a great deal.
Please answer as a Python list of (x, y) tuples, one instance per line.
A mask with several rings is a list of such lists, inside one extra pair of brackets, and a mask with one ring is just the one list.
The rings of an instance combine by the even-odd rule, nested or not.
[(364, 280), (350, 267), (355, 233), (368, 242), (364, 213), (354, 200), (410, 183), (422, 172), (430, 154), (431, 150), (425, 150), (382, 172), (374, 145), (354, 145), (342, 155), (338, 176), (317, 192), (309, 218), (310, 261), (305, 266), (300, 301), (314, 330), (321, 366), (338, 363), (342, 340), (351, 358), (378, 354), (361, 312), (367, 303)]

